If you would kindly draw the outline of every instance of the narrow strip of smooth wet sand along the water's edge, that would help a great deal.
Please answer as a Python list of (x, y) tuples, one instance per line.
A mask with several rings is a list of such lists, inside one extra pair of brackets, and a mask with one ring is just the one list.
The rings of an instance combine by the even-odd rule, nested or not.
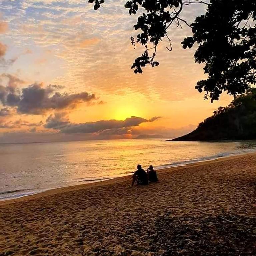
[[(177, 166), (156, 169), (156, 171), (157, 171), (157, 173), (170, 172), (170, 171), (176, 171), (176, 170), (180, 170), (180, 169), (193, 168), (193, 167), (197, 167), (197, 166), (201, 166), (201, 165), (207, 165), (207, 164), (211, 164), (211, 163), (215, 163), (215, 162), (219, 162), (219, 161), (225, 161), (228, 159), (240, 158), (240, 157), (247, 156), (247, 155), (256, 155), (256, 149), (254, 149), (252, 151), (253, 152), (237, 153), (237, 154), (232, 154), (232, 155), (228, 155), (228, 156), (220, 156), (215, 159), (206, 159), (206, 160), (202, 160), (202, 161), (198, 161), (198, 162), (192, 162), (192, 163), (183, 164), (183, 165), (177, 165)], [(193, 161), (193, 160), (191, 160), (191, 161)], [(127, 174), (127, 175), (120, 176), (120, 177), (113, 177), (113, 178), (109, 178), (109, 179), (93, 181), (93, 182), (79, 184), (79, 185), (71, 185), (71, 186), (46, 189), (46, 190), (38, 192), (38, 193), (20, 196), (17, 198), (1, 199), (0, 207), (3, 205), (13, 204), (16, 202), (21, 202), (21, 201), (34, 200), (34, 199), (36, 200), (37, 198), (40, 198), (40, 197), (55, 195), (55, 194), (59, 194), (59, 193), (65, 193), (65, 192), (77, 191), (77, 190), (82, 190), (82, 189), (98, 187), (98, 186), (122, 183), (124, 181), (127, 181), (128, 179), (131, 180), (131, 176), (132, 176), (132, 174)]]

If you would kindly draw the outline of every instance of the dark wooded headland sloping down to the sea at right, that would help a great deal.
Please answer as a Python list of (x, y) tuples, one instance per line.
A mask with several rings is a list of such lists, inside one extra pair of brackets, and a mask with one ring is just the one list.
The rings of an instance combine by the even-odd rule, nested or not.
[(167, 141), (256, 139), (256, 89), (237, 96), (228, 107), (219, 107), (211, 117), (181, 137)]

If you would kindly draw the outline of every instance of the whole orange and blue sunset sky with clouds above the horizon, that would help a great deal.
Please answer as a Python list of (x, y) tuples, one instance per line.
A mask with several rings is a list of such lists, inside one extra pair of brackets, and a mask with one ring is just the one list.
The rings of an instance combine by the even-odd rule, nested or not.
[[(0, 0), (0, 143), (174, 138), (195, 129), (232, 98), (210, 103), (195, 90), (205, 78), (190, 28), (171, 27), (157, 67), (134, 74), (141, 55), (130, 37), (137, 16), (125, 1)], [(186, 6), (192, 22), (205, 5)]]

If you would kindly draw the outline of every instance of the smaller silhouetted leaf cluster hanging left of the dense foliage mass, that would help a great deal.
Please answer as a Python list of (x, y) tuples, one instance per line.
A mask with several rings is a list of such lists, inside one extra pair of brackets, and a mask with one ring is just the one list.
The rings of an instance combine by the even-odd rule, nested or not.
[[(140, 29), (141, 33), (136, 39), (131, 37), (131, 43), (134, 47), (135, 43), (140, 43), (146, 50), (134, 60), (131, 68), (134, 69), (135, 74), (142, 73), (142, 67), (147, 64), (152, 67), (159, 65), (159, 62), (154, 61), (156, 47), (167, 35), (168, 27), (178, 17), (182, 6), (181, 0), (131, 0), (125, 4), (130, 15), (136, 14), (139, 8), (142, 10), (137, 24), (133, 26), (135, 30)], [(176, 11), (175, 8), (178, 10)], [(149, 54), (150, 50), (153, 50), (152, 55)]]

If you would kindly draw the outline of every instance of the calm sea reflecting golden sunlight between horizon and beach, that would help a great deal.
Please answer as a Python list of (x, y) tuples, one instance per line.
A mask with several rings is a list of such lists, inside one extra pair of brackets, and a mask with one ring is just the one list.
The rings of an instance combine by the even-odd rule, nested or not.
[(101, 140), (0, 145), (0, 200), (256, 150), (256, 141)]

